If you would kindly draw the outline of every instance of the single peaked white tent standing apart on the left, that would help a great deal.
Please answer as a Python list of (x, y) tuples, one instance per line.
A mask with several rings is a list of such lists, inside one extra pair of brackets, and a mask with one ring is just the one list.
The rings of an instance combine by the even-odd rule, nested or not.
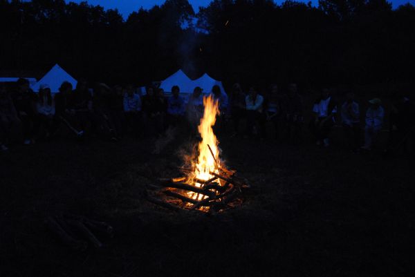
[(69, 82), (75, 88), (77, 80), (75, 80), (71, 75), (66, 73), (59, 65), (55, 64), (52, 69), (49, 70), (42, 79), (39, 80), (35, 85), (32, 86), (33, 91), (39, 91), (39, 87), (42, 84), (47, 84), (50, 87), (52, 93), (59, 93), (59, 87), (63, 82)]

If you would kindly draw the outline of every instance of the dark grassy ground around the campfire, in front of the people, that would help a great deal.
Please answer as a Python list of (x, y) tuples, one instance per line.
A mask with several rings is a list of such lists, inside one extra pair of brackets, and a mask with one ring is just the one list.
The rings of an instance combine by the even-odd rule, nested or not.
[[(252, 189), (242, 207), (214, 216), (145, 201), (187, 141), (160, 155), (151, 155), (154, 140), (129, 139), (1, 153), (0, 276), (410, 276), (409, 160), (220, 140)], [(43, 223), (60, 211), (109, 222), (116, 236), (103, 249), (71, 251)]]

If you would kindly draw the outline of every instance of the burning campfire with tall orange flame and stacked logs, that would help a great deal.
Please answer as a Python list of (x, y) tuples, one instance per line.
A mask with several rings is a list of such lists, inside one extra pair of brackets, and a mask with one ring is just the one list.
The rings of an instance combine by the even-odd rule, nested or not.
[(241, 203), (241, 189), (249, 187), (236, 171), (226, 169), (219, 157), (218, 140), (212, 126), (219, 115), (219, 104), (212, 96), (203, 97), (205, 111), (199, 125), (201, 142), (199, 156), (187, 167), (181, 167), (182, 176), (161, 180), (165, 207), (198, 210), (203, 212), (221, 211)]

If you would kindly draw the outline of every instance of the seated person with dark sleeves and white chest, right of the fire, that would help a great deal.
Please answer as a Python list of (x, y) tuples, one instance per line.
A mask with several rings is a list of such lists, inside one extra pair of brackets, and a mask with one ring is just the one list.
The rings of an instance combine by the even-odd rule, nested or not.
[(314, 119), (311, 120), (311, 132), (317, 140), (317, 145), (329, 146), (329, 133), (335, 124), (337, 104), (327, 88), (322, 90), (322, 95), (313, 106)]

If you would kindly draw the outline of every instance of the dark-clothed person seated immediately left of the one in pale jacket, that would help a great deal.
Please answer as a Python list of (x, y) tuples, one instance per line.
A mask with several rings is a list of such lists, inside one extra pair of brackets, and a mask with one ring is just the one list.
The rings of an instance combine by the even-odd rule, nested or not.
[(234, 135), (241, 135), (240, 122), (246, 117), (245, 98), (246, 95), (243, 93), (241, 85), (234, 84), (230, 93), (230, 116), (234, 125)]

